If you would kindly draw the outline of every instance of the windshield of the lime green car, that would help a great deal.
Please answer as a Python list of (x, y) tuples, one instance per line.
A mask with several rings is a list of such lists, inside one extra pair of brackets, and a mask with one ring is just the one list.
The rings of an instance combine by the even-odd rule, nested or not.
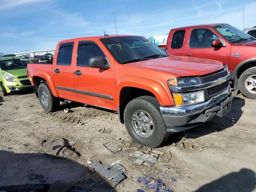
[(14, 69), (25, 69), (27, 64), (31, 63), (27, 59), (0, 60), (0, 68), (4, 71)]

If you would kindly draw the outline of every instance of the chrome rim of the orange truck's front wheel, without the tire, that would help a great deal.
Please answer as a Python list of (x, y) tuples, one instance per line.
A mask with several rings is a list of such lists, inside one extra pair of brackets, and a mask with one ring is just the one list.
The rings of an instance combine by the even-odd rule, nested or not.
[(132, 114), (132, 127), (142, 137), (149, 137), (154, 132), (153, 119), (143, 110), (137, 110)]

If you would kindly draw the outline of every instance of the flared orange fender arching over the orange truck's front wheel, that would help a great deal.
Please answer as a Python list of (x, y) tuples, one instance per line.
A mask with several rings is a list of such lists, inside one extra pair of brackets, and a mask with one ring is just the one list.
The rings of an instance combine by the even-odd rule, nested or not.
[(167, 82), (166, 86), (164, 86), (161, 82), (149, 78), (134, 75), (121, 76), (120, 79), (117, 80), (118, 96), (116, 98), (118, 104), (120, 104), (120, 92), (124, 87), (134, 87), (147, 90), (154, 94), (162, 106), (174, 105), (174, 100), (172, 99), (172, 95), (167, 86)]

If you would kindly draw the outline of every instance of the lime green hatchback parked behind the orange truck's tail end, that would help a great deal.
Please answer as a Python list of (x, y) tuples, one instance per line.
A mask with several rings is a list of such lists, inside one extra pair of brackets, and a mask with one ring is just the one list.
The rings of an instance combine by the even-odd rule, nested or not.
[(0, 89), (4, 96), (12, 91), (32, 88), (26, 69), (28, 63), (32, 62), (26, 58), (0, 58)]

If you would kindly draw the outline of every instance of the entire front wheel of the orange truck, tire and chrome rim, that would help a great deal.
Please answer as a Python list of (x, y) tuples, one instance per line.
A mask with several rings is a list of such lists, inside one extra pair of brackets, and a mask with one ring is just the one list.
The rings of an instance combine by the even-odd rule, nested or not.
[(124, 123), (132, 139), (142, 146), (158, 147), (169, 136), (159, 102), (152, 96), (130, 101), (124, 110)]

